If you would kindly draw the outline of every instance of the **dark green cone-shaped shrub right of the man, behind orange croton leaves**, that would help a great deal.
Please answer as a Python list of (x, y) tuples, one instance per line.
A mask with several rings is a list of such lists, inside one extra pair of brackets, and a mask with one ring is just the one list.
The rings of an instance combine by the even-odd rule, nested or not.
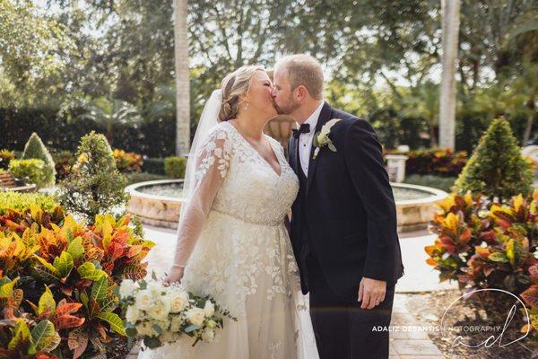
[(521, 156), (521, 148), (508, 121), (495, 119), (482, 136), (473, 156), (456, 180), (460, 194), (471, 190), (499, 202), (522, 193), (532, 192), (531, 164)]

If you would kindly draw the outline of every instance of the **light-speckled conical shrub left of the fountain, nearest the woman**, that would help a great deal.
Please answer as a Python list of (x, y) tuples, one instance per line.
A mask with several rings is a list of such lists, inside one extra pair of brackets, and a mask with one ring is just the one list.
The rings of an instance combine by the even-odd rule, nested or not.
[(91, 222), (117, 206), (125, 206), (126, 177), (117, 171), (107, 138), (91, 132), (83, 136), (77, 160), (67, 179), (60, 182), (58, 200), (66, 210)]

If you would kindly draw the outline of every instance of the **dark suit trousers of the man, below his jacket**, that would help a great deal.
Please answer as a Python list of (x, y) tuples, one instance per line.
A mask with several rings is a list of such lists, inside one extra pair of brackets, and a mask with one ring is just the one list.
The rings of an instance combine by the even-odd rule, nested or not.
[[(320, 359), (388, 358), (395, 285), (387, 285), (385, 301), (373, 309), (360, 309), (360, 302), (346, 301), (326, 284), (314, 256), (308, 257), (310, 318)], [(373, 330), (374, 327), (385, 330)]]

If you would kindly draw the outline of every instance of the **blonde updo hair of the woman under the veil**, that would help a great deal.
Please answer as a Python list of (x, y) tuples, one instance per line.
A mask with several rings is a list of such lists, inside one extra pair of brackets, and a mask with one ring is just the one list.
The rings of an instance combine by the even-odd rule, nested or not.
[(231, 74), (226, 75), (221, 83), (221, 109), (219, 121), (236, 118), (241, 104), (240, 96), (247, 94), (250, 79), (256, 71), (265, 71), (263, 66), (241, 66)]

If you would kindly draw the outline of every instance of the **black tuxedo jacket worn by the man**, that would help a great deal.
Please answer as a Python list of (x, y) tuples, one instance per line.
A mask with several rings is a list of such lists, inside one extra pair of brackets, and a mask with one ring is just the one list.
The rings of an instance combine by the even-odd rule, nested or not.
[[(324, 147), (314, 160), (312, 146), (304, 191), (306, 210), (299, 213), (299, 196), (291, 208), (291, 242), (301, 277), (301, 238), (308, 233), (331, 290), (356, 301), (363, 276), (391, 285), (403, 276), (404, 266), (396, 232), (395, 199), (376, 132), (368, 121), (333, 109), (326, 102), (316, 132), (332, 118), (342, 119), (329, 135), (337, 151)], [(291, 136), (290, 164), (299, 173), (297, 145), (298, 140)], [(307, 223), (308, 228), (301, 228), (299, 223)], [(301, 285), (303, 293), (308, 293), (303, 280)]]

